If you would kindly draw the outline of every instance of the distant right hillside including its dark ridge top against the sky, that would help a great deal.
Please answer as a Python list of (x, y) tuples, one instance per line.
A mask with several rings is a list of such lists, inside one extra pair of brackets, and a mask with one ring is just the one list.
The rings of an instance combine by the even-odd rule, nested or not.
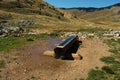
[(70, 8), (64, 9), (76, 18), (85, 19), (97, 26), (119, 28), (120, 3), (103, 8)]

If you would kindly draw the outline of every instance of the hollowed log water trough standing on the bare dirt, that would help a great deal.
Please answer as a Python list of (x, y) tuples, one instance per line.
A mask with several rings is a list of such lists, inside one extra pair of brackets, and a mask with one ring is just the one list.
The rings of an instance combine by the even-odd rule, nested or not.
[(55, 58), (73, 60), (72, 53), (76, 53), (82, 41), (77, 36), (70, 36), (54, 48)]

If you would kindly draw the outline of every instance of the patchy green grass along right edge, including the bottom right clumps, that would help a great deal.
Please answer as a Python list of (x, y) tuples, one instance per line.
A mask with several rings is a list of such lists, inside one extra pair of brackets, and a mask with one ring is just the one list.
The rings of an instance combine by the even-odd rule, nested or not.
[(107, 66), (100, 70), (91, 70), (88, 73), (87, 80), (120, 80), (120, 39), (106, 40), (105, 43), (111, 48), (111, 56), (102, 57), (100, 60)]

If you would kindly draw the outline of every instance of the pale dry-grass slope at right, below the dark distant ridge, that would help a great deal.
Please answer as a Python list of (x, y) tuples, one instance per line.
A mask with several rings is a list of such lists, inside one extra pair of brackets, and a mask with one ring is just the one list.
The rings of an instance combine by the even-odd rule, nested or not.
[(112, 7), (110, 9), (96, 10), (93, 12), (86, 12), (84, 10), (71, 9), (67, 10), (77, 18), (82, 18), (89, 22), (89, 25), (99, 26), (102, 28), (116, 28), (120, 26), (120, 7)]

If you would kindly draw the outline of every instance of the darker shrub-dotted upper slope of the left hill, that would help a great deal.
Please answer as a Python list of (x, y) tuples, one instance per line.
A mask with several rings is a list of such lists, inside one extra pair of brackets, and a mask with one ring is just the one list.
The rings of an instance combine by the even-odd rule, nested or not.
[(57, 8), (43, 0), (2, 0), (0, 9), (21, 14), (39, 14), (56, 18), (64, 18)]

